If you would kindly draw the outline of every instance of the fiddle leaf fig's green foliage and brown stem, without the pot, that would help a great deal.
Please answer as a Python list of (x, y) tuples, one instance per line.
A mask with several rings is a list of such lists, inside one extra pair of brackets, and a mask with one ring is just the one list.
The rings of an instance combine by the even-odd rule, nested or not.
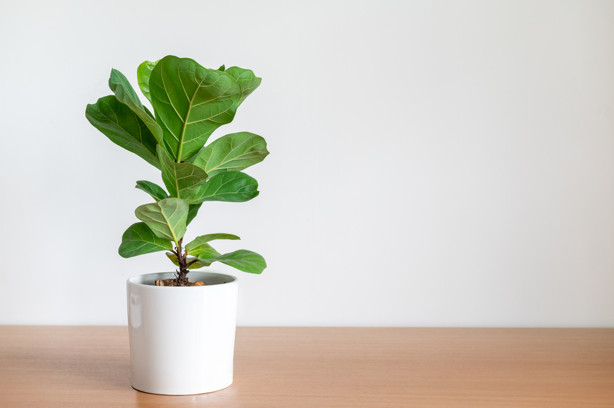
[(210, 244), (218, 239), (238, 240), (234, 234), (205, 234), (185, 246), (183, 240), (205, 201), (245, 202), (259, 193), (258, 182), (242, 171), (268, 155), (265, 139), (239, 132), (206, 143), (217, 128), (235, 118), (237, 108), (261, 79), (249, 69), (208, 69), (172, 55), (144, 61), (137, 78), (153, 114), (117, 69), (111, 70), (109, 78), (113, 94), (85, 109), (91, 125), (160, 170), (166, 187), (136, 182), (136, 188), (154, 202), (134, 211), (141, 222), (123, 233), (119, 255), (130, 258), (166, 251), (179, 269), (173, 282), (160, 283), (165, 285), (193, 285), (187, 279), (190, 269), (214, 262), (260, 274), (266, 268), (261, 255), (244, 249), (221, 254)]

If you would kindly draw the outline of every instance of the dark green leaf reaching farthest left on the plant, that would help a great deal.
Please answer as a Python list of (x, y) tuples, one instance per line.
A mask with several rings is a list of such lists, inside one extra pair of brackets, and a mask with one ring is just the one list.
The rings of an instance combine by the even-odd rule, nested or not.
[(136, 153), (158, 169), (162, 168), (156, 157), (155, 137), (141, 118), (114, 95), (88, 104), (85, 117), (115, 144)]

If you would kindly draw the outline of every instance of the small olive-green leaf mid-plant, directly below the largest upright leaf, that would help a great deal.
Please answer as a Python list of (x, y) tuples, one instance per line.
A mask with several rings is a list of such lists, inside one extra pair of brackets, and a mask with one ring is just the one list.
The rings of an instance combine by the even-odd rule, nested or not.
[(207, 180), (206, 172), (192, 163), (175, 163), (160, 145), (158, 160), (162, 164), (162, 181), (171, 197), (192, 202), (199, 186)]

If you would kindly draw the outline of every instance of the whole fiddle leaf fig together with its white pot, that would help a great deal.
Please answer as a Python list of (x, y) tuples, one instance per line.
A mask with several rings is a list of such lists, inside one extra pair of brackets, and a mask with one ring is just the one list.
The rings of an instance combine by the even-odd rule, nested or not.
[(221, 262), (260, 274), (266, 263), (255, 252), (221, 254), (210, 244), (236, 235), (209, 233), (184, 243), (184, 234), (204, 202), (244, 202), (258, 195), (256, 180), (241, 171), (268, 155), (262, 137), (232, 133), (205, 144), (233, 120), (261, 79), (249, 69), (207, 69), (172, 55), (145, 61), (137, 76), (153, 114), (116, 69), (109, 79), (114, 94), (85, 110), (112, 142), (157, 167), (166, 187), (136, 182), (154, 202), (135, 210), (140, 222), (126, 229), (119, 247), (124, 258), (166, 251), (177, 267), (126, 283), (132, 386), (168, 395), (221, 390), (232, 383), (238, 280), (190, 269)]

